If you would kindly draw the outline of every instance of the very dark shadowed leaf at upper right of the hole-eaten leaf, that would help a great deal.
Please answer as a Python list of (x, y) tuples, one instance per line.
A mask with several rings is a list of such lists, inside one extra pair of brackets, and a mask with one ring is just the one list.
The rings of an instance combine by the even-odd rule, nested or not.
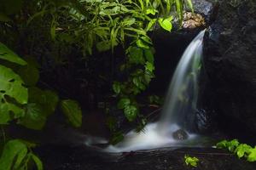
[(33, 58), (27, 58), (26, 63), (18, 70), (19, 75), (27, 86), (35, 86), (39, 80), (38, 63)]

